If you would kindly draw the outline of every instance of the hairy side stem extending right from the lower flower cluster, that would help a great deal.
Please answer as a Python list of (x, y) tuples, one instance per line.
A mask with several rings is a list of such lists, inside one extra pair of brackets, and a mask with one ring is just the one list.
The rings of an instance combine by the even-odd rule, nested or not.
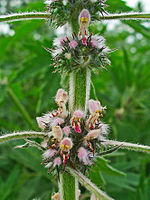
[(141, 151), (145, 153), (150, 153), (150, 146), (139, 145), (139, 144), (132, 144), (128, 142), (118, 142), (114, 140), (106, 140), (104, 144), (107, 146), (120, 146), (120, 149), (128, 149), (133, 151)]

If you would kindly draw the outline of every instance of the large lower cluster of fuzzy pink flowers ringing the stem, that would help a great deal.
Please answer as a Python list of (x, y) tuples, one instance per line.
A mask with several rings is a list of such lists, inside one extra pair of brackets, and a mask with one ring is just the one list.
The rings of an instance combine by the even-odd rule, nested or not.
[(59, 171), (64, 170), (66, 164), (85, 170), (103, 149), (108, 125), (100, 118), (106, 107), (99, 101), (89, 100), (88, 115), (81, 110), (71, 114), (66, 109), (67, 100), (67, 92), (59, 89), (55, 97), (58, 109), (36, 118), (39, 128), (45, 131), (41, 144), (44, 149), (42, 164)]

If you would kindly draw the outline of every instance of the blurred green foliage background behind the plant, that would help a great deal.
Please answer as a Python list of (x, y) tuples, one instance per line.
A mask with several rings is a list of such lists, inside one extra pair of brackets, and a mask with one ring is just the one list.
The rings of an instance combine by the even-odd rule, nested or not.
[[(107, 4), (111, 13), (144, 9), (142, 1), (134, 8), (122, 0)], [(44, 10), (41, 0), (0, 1), (0, 14)], [(90, 30), (118, 49), (110, 56), (108, 71), (92, 76), (96, 95), (108, 108), (104, 121), (110, 124), (109, 138), (150, 145), (150, 23), (99, 22)], [(35, 118), (55, 108), (60, 75), (52, 73), (51, 56), (42, 48), (51, 48), (55, 37), (45, 21), (0, 24), (0, 134), (38, 130)], [(21, 143), (0, 146), (0, 200), (50, 199), (57, 191), (56, 178), (41, 166), (38, 150), (13, 148)], [(150, 199), (148, 154), (119, 150), (105, 159), (109, 162), (98, 160), (89, 175), (97, 186), (116, 200)], [(81, 190), (81, 200), (89, 199), (90, 194)]]

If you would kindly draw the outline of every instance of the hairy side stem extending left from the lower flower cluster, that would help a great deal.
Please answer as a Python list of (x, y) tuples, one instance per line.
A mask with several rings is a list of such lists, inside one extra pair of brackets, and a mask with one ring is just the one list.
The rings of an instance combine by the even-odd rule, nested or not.
[(14, 132), (0, 136), (0, 143), (16, 139), (44, 138), (45, 136), (46, 134), (44, 132), (34, 132), (34, 131)]

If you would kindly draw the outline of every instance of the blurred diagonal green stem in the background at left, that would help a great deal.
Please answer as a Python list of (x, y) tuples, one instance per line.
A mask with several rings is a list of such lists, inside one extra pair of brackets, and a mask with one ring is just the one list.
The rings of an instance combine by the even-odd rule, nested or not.
[(24, 106), (21, 104), (21, 102), (19, 101), (18, 97), (16, 96), (16, 94), (13, 92), (13, 90), (11, 88), (7, 88), (7, 92), (9, 94), (9, 96), (11, 97), (11, 99), (13, 100), (13, 102), (15, 103), (15, 105), (17, 106), (18, 110), (21, 112), (21, 114), (24, 116), (24, 118), (26, 119), (26, 121), (28, 122), (28, 124), (31, 126), (31, 128), (33, 130), (37, 130), (37, 127), (34, 125), (30, 115), (28, 114), (28, 112), (26, 111), (26, 109), (24, 108)]

